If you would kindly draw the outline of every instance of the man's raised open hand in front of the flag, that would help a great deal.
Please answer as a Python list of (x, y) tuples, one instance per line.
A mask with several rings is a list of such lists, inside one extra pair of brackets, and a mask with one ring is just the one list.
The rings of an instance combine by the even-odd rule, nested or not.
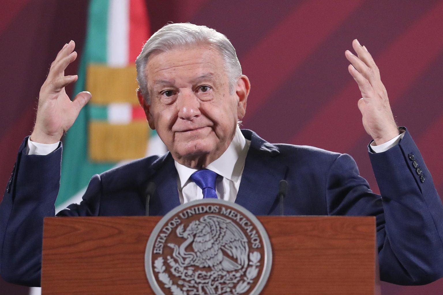
[(65, 76), (66, 67), (77, 58), (75, 43), (70, 41), (57, 54), (51, 64), (48, 77), (40, 88), (39, 107), (31, 141), (39, 143), (59, 142), (63, 134), (74, 124), (78, 113), (91, 99), (91, 93), (78, 93), (70, 100), (65, 87), (77, 81), (78, 76)]

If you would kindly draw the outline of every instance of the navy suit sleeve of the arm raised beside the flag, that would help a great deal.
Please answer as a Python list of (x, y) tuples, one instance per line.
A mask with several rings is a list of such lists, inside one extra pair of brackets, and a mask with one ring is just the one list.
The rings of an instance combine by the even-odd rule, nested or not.
[[(27, 138), (19, 148), (11, 179), (0, 203), (0, 273), (4, 280), (39, 286), (43, 218), (53, 217), (60, 187), (62, 145), (54, 152), (27, 155)], [(70, 205), (58, 216), (96, 216), (100, 176), (93, 176), (81, 205)]]

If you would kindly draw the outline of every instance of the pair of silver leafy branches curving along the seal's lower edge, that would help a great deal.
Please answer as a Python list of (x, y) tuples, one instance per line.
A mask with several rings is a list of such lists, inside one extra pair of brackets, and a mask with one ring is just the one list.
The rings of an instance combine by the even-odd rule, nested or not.
[[(228, 293), (226, 295), (239, 295), (243, 294), (246, 291), (248, 291), (250, 284), (253, 283), (253, 280), (256, 278), (258, 274), (258, 268), (257, 266), (260, 265), (258, 261), (260, 261), (260, 253), (259, 252), (253, 252), (249, 253), (249, 268), (246, 270), (246, 277), (245, 280), (240, 281), (240, 283), (237, 284), (235, 289), (232, 293)], [(169, 278), (169, 275), (165, 272), (166, 268), (163, 264), (164, 259), (163, 257), (159, 257), (154, 261), (154, 271), (157, 272), (159, 275), (159, 280), (162, 281), (166, 288), (171, 289), (171, 292), (173, 295), (187, 295), (186, 292), (183, 292), (179, 287), (172, 284), (172, 280)]]

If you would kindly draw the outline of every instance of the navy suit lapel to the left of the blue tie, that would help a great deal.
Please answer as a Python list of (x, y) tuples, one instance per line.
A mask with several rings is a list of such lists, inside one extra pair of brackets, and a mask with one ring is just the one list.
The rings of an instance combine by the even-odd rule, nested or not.
[(149, 202), (149, 215), (165, 215), (180, 205), (177, 191), (177, 170), (170, 153), (159, 158), (154, 164), (154, 175), (150, 181), (157, 187)]

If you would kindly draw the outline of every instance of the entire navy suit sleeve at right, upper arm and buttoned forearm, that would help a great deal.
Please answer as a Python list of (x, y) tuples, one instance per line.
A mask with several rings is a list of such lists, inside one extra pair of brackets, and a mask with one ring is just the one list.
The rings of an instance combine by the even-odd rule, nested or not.
[[(420, 175), (408, 158), (411, 153)], [(438, 280), (443, 276), (443, 206), (419, 150), (406, 132), (398, 145), (369, 157), (381, 197), (370, 191), (354, 160), (340, 155), (327, 178), (329, 213), (376, 217), (381, 280), (400, 285)]]

